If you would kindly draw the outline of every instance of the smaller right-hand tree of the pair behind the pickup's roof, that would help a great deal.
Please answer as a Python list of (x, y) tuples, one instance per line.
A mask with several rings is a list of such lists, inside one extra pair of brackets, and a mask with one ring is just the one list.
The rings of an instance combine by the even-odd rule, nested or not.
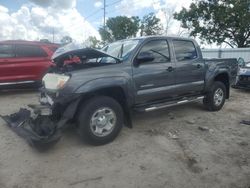
[(140, 29), (141, 36), (159, 35), (162, 33), (160, 19), (154, 13), (150, 13), (142, 18)]

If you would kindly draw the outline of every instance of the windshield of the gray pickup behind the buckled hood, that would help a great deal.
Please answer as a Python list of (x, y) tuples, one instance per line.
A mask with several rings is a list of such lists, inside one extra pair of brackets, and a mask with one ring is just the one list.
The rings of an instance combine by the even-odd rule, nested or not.
[[(124, 40), (111, 43), (105, 46), (102, 51), (106, 52), (107, 54), (120, 58), (121, 60), (125, 60), (129, 57), (130, 53), (135, 49), (139, 40)], [(111, 57), (104, 57), (101, 60), (101, 63), (111, 63), (115, 62), (115, 60)]]

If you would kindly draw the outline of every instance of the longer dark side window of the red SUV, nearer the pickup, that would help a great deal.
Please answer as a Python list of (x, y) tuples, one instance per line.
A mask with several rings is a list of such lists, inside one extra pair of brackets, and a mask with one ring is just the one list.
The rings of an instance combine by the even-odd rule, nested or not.
[(47, 57), (47, 53), (35, 45), (16, 45), (16, 57)]

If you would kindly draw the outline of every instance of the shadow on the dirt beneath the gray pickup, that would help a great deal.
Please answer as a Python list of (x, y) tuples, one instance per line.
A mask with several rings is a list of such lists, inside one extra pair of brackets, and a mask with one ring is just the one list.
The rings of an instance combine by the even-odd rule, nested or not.
[[(191, 112), (190, 109), (192, 109)], [(186, 115), (187, 111), (190, 113), (187, 114), (187, 116), (189, 115), (191, 116), (196, 111), (203, 111), (204, 113), (207, 113), (205, 107), (202, 105), (201, 102), (183, 104), (153, 112), (135, 113), (132, 118), (133, 128), (129, 129), (124, 127), (122, 133), (114, 140), (114, 142), (121, 142), (122, 140), (128, 139), (126, 138), (127, 134), (130, 134), (131, 131), (133, 131), (135, 134), (137, 134), (136, 132), (138, 131), (145, 132), (149, 128), (153, 128), (152, 124), (155, 125), (154, 128), (157, 128), (158, 122), (160, 124), (161, 122), (167, 122), (170, 120), (178, 119), (179, 117), (183, 117)], [(123, 131), (125, 131), (125, 133)], [(76, 147), (76, 148), (93, 147), (88, 143), (86, 143), (82, 138), (80, 138), (80, 136), (77, 134), (76, 126), (74, 123), (70, 124), (70, 126), (63, 132), (60, 145), (61, 145), (60, 147)], [(106, 147), (106, 146), (100, 146), (100, 147)]]

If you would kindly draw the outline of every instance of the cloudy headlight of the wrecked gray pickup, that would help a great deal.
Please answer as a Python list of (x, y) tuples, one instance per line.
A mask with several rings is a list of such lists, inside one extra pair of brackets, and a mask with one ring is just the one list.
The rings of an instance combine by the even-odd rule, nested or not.
[(57, 91), (69, 81), (70, 76), (48, 73), (43, 77), (44, 87), (50, 91)]

